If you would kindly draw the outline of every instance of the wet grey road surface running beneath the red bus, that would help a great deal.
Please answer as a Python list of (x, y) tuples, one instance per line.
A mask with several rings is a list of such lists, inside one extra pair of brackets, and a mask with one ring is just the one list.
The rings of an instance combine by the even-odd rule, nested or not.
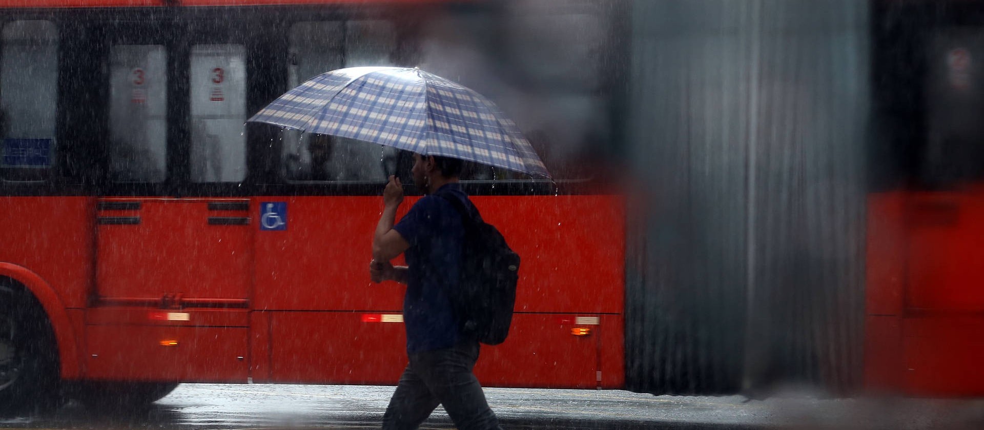
[[(0, 428), (378, 428), (393, 387), (186, 384), (149, 409), (95, 411), (72, 402), (42, 416), (0, 418)], [(984, 399), (746, 401), (624, 391), (486, 389), (506, 429), (982, 429)], [(454, 428), (438, 407), (423, 429)]]

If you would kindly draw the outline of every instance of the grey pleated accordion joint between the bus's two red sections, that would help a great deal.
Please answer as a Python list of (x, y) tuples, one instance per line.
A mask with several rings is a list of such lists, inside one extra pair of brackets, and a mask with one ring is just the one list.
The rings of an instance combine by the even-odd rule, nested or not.
[(630, 389), (858, 389), (867, 2), (632, 7)]

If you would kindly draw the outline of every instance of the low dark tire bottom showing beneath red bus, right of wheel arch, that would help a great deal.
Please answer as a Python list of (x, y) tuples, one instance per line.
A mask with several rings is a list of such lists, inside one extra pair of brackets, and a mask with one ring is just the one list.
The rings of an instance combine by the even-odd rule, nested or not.
[(76, 399), (92, 408), (139, 410), (177, 387), (176, 382), (92, 382), (82, 386)]

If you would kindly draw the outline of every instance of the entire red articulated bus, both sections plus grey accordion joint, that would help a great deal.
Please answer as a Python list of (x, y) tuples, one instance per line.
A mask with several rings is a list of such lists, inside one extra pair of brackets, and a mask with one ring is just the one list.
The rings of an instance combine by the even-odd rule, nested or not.
[[(0, 0), (0, 408), (66, 391), (141, 403), (186, 382), (396, 383), (402, 291), (371, 284), (366, 263), (384, 178), (411, 182), (407, 154), (244, 125), (310, 77), (368, 64), (488, 95), (558, 178), (464, 177), (523, 257), (511, 336), (476, 367), (484, 385), (984, 393), (971, 67), (984, 5), (841, 2), (820, 9), (870, 22), (825, 38), (840, 15), (739, 4), (765, 18), (732, 23), (670, 3)], [(813, 27), (751, 31), (747, 46), (727, 30), (781, 25), (776, 11)], [(777, 60), (732, 67), (754, 55)], [(870, 93), (828, 91), (851, 79)], [(759, 110), (730, 91), (746, 80)], [(824, 95), (810, 115), (769, 104), (801, 89)], [(847, 134), (796, 129), (842, 126), (853, 111), (837, 101), (854, 96), (871, 102), (872, 187), (796, 196), (810, 168), (865, 190), (849, 182), (863, 175), (825, 176), (861, 165), (831, 153)], [(627, 125), (627, 100), (648, 116)], [(646, 158), (626, 129), (661, 157), (646, 167), (665, 187), (646, 202), (657, 215), (627, 210), (635, 196), (603, 167)], [(731, 142), (753, 129), (756, 145)], [(776, 156), (753, 164), (754, 151)], [(790, 183), (788, 207), (769, 201)], [(804, 215), (831, 212), (862, 226)]]

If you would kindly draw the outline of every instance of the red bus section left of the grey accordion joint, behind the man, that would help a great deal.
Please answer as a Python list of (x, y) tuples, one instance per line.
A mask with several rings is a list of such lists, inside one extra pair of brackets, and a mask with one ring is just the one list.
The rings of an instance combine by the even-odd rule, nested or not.
[[(384, 179), (408, 175), (408, 155), (244, 125), (311, 77), (369, 64), (460, 80), (537, 145), (557, 141), (543, 154), (556, 184), (481, 166), (464, 178), (523, 256), (511, 336), (483, 351), (483, 384), (624, 386), (624, 199), (572, 167), (603, 132), (591, 112), (610, 83), (600, 58), (581, 59), (590, 46), (535, 37), (577, 28), (603, 43), (606, 9), (534, 5), (523, 17), (537, 18), (503, 21), (518, 13), (478, 1), (0, 8), (0, 404), (63, 386), (146, 402), (181, 382), (395, 384), (402, 290), (371, 284), (366, 265)], [(496, 84), (497, 47), (590, 64), (531, 63)], [(567, 107), (523, 107), (533, 96)]]

